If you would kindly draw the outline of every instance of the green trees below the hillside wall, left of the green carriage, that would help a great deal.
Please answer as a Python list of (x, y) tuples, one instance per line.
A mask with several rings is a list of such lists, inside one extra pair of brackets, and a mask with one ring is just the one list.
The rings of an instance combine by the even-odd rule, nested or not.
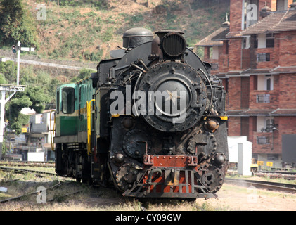
[[(15, 83), (16, 67), (11, 61), (0, 63), (1, 84)], [(23, 67), (20, 70), (20, 84), (26, 85), (24, 92), (17, 92), (6, 104), (10, 116), (8, 127), (20, 134), (23, 125), (29, 122), (29, 116), (22, 115), (22, 108), (32, 108), (37, 113), (45, 109), (47, 103), (54, 103), (56, 87), (60, 84), (57, 79), (51, 79), (49, 74), (43, 71), (34, 75), (33, 67)]]

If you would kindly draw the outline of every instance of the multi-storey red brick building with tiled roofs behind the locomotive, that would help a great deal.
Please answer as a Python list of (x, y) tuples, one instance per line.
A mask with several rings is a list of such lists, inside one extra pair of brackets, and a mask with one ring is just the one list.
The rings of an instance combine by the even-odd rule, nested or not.
[(230, 1), (229, 21), (197, 44), (228, 92), (229, 136), (274, 167), (296, 163), (296, 2)]

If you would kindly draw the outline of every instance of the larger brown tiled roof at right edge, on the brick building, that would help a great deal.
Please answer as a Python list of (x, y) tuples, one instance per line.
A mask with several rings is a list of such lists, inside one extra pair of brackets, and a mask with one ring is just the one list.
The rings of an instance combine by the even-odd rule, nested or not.
[(271, 12), (266, 18), (241, 32), (242, 35), (296, 30), (296, 10)]

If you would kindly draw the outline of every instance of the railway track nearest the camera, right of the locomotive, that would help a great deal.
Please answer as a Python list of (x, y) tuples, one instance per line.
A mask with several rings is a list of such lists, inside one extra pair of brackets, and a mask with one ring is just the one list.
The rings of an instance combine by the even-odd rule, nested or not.
[(226, 178), (224, 182), (226, 184), (235, 184), (235, 185), (244, 186), (244, 187), (264, 188), (271, 191), (283, 191), (283, 192), (289, 192), (289, 193), (296, 193), (295, 184), (284, 184), (284, 183), (276, 183), (276, 182), (269, 182), (269, 181), (252, 181), (252, 180), (230, 179), (230, 178)]

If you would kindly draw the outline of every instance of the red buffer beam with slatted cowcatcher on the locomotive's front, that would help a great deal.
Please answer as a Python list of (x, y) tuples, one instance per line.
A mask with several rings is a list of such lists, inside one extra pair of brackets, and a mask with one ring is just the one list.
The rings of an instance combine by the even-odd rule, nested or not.
[(123, 195), (136, 198), (217, 198), (200, 183), (197, 160), (196, 156), (187, 155), (144, 155), (143, 176)]

